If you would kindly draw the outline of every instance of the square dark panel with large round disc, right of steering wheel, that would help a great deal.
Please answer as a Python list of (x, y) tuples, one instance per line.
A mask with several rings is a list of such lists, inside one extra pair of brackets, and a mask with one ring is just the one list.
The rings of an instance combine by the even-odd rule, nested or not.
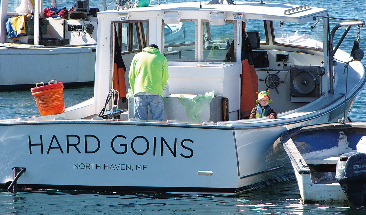
[(325, 69), (320, 66), (292, 66), (291, 96), (292, 97), (320, 97), (321, 76)]

